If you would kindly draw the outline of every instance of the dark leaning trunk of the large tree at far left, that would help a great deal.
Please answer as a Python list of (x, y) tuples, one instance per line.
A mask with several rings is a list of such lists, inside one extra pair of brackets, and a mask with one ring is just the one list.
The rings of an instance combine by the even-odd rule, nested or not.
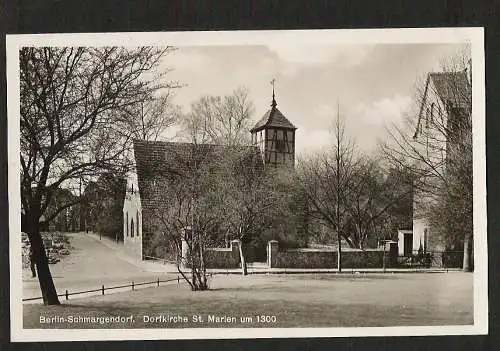
[(52, 280), (52, 275), (49, 269), (49, 260), (45, 253), (45, 246), (43, 244), (42, 236), (40, 235), (39, 218), (36, 216), (28, 217), (28, 238), (33, 250), (33, 260), (36, 264), (38, 273), (38, 282), (40, 283), (40, 290), (42, 292), (44, 305), (59, 305), (59, 298), (57, 291)]

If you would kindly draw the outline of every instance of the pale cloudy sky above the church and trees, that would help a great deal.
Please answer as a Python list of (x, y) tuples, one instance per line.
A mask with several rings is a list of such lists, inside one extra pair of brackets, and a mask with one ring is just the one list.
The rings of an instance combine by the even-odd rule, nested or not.
[(276, 79), (278, 109), (298, 127), (298, 153), (331, 144), (337, 101), (349, 136), (374, 150), (385, 125), (401, 121), (417, 79), (440, 70), (457, 44), (190, 46), (169, 54), (168, 77), (186, 86), (173, 102), (189, 110), (203, 95), (249, 89), (256, 122), (269, 109)]

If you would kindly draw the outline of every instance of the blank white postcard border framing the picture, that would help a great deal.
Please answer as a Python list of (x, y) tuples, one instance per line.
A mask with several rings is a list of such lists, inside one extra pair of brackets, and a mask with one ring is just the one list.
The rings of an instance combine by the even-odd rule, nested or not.
[[(484, 29), (398, 28), (293, 31), (152, 33), (66, 33), (7, 35), (7, 116), (9, 184), (10, 312), (12, 341), (235, 339), (270, 337), (346, 337), (474, 335), (488, 332), (488, 256), (486, 218), (486, 124)], [(196, 329), (23, 329), (19, 150), (19, 49), (23, 46), (268, 45), (471, 43), (473, 62), (474, 325), (358, 328), (196, 328)], [(293, 45), (293, 44), (291, 44)]]

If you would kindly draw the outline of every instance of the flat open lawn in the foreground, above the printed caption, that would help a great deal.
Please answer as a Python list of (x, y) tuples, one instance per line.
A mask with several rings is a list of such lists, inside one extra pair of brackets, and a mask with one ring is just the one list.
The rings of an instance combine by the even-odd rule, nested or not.
[[(380, 327), (473, 324), (472, 274), (216, 276), (212, 289), (174, 284), (24, 305), (25, 328)], [(40, 323), (40, 316), (54, 323)], [(129, 317), (70, 323), (69, 317)], [(148, 322), (148, 317), (159, 317)], [(162, 319), (165, 316), (167, 319)], [(168, 320), (168, 317), (176, 317)], [(194, 320), (200, 316), (203, 322)], [(227, 316), (229, 322), (209, 322)], [(270, 316), (262, 322), (257, 316)], [(234, 319), (232, 319), (234, 317)], [(242, 317), (250, 317), (242, 321)], [(64, 318), (64, 320), (63, 320)], [(275, 319), (274, 319), (275, 318)], [(56, 320), (57, 319), (57, 320)], [(199, 320), (199, 319), (198, 319)], [(103, 322), (104, 324), (101, 324)]]

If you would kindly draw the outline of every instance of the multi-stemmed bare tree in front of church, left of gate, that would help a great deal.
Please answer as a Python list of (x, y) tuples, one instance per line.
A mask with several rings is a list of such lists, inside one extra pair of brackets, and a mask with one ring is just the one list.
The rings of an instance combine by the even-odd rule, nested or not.
[[(206, 290), (205, 250), (222, 241), (226, 206), (224, 150), (214, 145), (178, 144), (175, 169), (155, 175), (158, 231), (155, 245), (173, 254), (177, 269), (192, 290)], [(182, 270), (187, 265), (188, 277)]]

